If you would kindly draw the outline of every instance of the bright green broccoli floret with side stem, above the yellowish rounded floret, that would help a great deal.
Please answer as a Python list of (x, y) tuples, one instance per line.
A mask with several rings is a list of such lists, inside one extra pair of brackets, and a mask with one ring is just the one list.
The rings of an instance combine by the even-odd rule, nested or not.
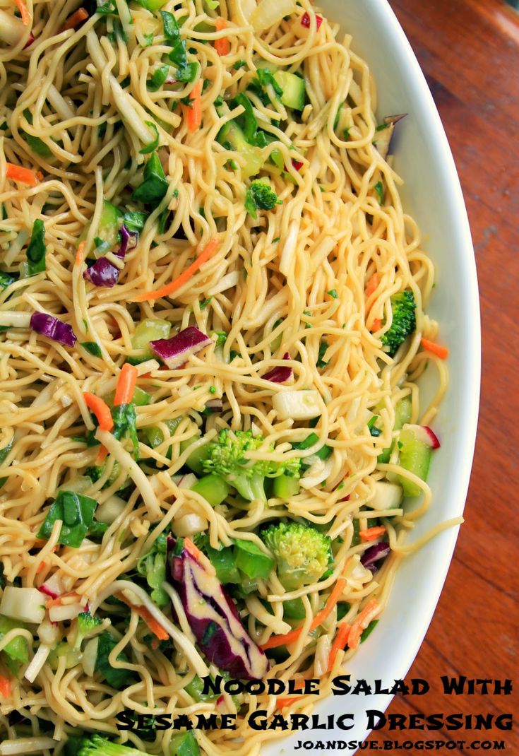
[[(298, 477), (301, 460), (298, 457), (284, 462), (247, 459), (246, 452), (258, 449), (262, 444), (263, 437), (254, 438), (250, 430), (230, 432), (223, 429), (218, 440), (208, 445), (209, 454), (207, 459), (202, 460), (203, 469), (224, 478), (244, 499), (267, 501), (265, 478), (277, 478), (280, 475)], [(274, 451), (273, 445), (267, 451)]]

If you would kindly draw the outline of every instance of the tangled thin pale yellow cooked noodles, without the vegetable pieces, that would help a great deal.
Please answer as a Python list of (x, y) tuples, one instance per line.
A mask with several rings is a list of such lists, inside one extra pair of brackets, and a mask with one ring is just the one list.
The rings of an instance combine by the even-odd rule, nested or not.
[[(123, 19), (127, 6), (116, 5)], [(329, 648), (338, 627), (337, 611), (317, 635), (308, 637), (311, 620), (343, 573), (341, 602), (350, 605), (348, 622), (372, 598), (377, 616), (383, 611), (400, 559), (412, 549), (403, 544), (406, 532), (429, 507), (431, 490), (399, 466), (397, 445), (387, 463), (378, 463), (377, 457), (397, 435), (397, 402), (411, 398), (409, 423), (427, 426), (448, 381), (444, 362), (420, 348), (422, 337), (437, 336), (437, 324), (424, 312), (434, 268), (422, 251), (416, 222), (402, 208), (401, 179), (391, 159), (385, 160), (373, 144), (376, 95), (369, 68), (351, 50), (351, 39), (341, 35), (338, 24), (325, 19), (317, 29), (308, 0), (294, 3), (286, 18), (260, 30), (249, 23), (250, 3), (221, 0), (212, 11), (202, 0), (166, 2), (162, 11), (182, 20), (188, 58), (199, 63), (196, 81), (204, 82), (202, 124), (190, 131), (189, 104), (179, 101), (189, 97), (196, 82), (166, 82), (156, 91), (147, 86), (170, 50), (160, 14), (132, 3), (133, 23), (93, 14), (77, 29), (60, 31), (77, 6), (77, 0), (26, 0), (32, 26), (23, 27), (19, 42), (0, 47), (0, 125), (6, 124), (0, 131), (0, 267), (21, 272), (0, 295), (0, 322), (9, 326), (0, 342), (0, 448), (12, 443), (0, 472), (5, 479), (0, 559), (8, 585), (41, 587), (57, 575), (70, 596), (63, 598), (64, 606), (67, 600), (88, 604), (100, 618), (110, 618), (117, 642), (111, 663), (134, 671), (136, 682), (113, 689), (98, 673), (87, 674), (81, 661), (69, 664), (66, 655), (54, 668), (43, 664), (31, 683), (23, 668), (17, 677), (11, 675), (11, 697), (0, 699), (2, 737), (16, 739), (21, 733), (38, 739), (43, 733), (59, 743), (50, 750), (42, 743), (36, 750), (36, 742), (31, 752), (53, 754), (63, 751), (70, 733), (118, 735), (115, 716), (123, 709), (190, 716), (236, 711), (230, 696), (217, 709), (215, 702), (196, 702), (184, 690), (196, 672), (203, 674), (206, 662), (173, 587), (167, 590), (177, 617), (172, 619), (167, 607), (156, 608), (158, 621), (162, 614), (175, 625), (178, 637), (174, 635), (168, 650), (150, 643), (147, 624), (135, 611), (110, 603), (159, 534), (171, 526), (175, 532), (175, 523), (189, 513), (207, 528), (215, 548), (246, 534), (265, 550), (259, 528), (280, 517), (323, 526), (334, 541), (332, 573), (287, 592), (274, 572), (268, 580), (258, 580), (255, 592), (239, 601), (239, 610), (249, 635), (262, 644), (301, 624), (283, 618), (283, 602), (301, 597), (304, 631), (284, 661), (271, 660), (268, 676), (322, 677), (321, 692), (326, 692), (329, 677), (355, 649), (339, 651), (332, 672), (326, 672), (326, 664), (323, 671), (317, 635), (328, 639), (317, 641), (320, 648)], [(12, 16), (14, 5), (0, 0), (0, 10)], [(310, 28), (301, 25), (304, 13), (312, 19)], [(218, 15), (227, 20), (223, 31), (214, 28)], [(35, 41), (25, 48), (31, 29)], [(223, 57), (216, 39), (230, 42)], [(279, 98), (265, 104), (257, 91), (247, 89), (260, 61), (304, 76), (303, 110), (285, 107)], [(273, 209), (260, 210), (257, 220), (244, 206), (250, 178), (243, 175), (243, 156), (230, 153), (229, 145), (217, 140), (222, 126), (243, 113), (233, 98), (245, 91), (259, 127), (273, 137), (261, 148), (261, 178), (280, 200)], [(223, 103), (217, 98), (224, 98)], [(167, 191), (154, 209), (147, 209), (137, 246), (128, 250), (124, 264), (110, 253), (121, 268), (119, 283), (97, 287), (83, 272), (85, 260), (94, 259), (103, 202), (123, 211), (143, 209), (131, 200), (131, 191), (143, 180), (149, 159), (140, 150), (155, 136), (150, 122), (159, 135), (156, 154)], [(36, 151), (31, 138), (40, 140)], [(274, 150), (277, 163), (268, 160)], [(12, 181), (6, 178), (8, 164), (41, 172), (41, 180), (33, 187)], [(45, 271), (26, 277), (26, 246), (37, 218), (45, 224)], [(181, 275), (214, 238), (216, 252), (171, 297), (136, 301), (139, 294)], [(85, 241), (84, 256), (77, 262), (80, 239)], [(366, 297), (375, 274), (378, 284)], [(410, 290), (416, 302), (416, 330), (391, 358), (381, 338), (391, 327), (390, 297), (403, 290)], [(35, 311), (69, 324), (78, 337), (76, 345), (51, 341), (26, 323), (17, 327), (16, 318), (23, 324)], [(12, 313), (23, 315), (10, 321)], [(145, 318), (168, 321), (171, 334), (194, 325), (202, 333), (224, 331), (227, 336), (220, 347), (213, 339), (173, 370), (159, 367), (158, 361), (138, 367), (137, 386), (151, 397), (150, 403), (137, 407), (139, 464), (128, 440), (97, 432), (109, 454), (100, 477), (88, 479), (81, 494), (94, 498), (99, 507), (125, 487), (125, 493), (119, 491), (122, 509), (106, 532), (85, 538), (79, 547), (66, 547), (58, 543), (58, 522), (48, 540), (38, 538), (57, 490), (66, 490), (79, 476), (84, 479), (97, 460), (99, 445), (85, 445), (84, 440), (94, 432), (84, 392), (107, 398), (116, 389), (122, 364), (139, 354), (131, 339)], [(95, 342), (100, 356), (88, 352), (83, 342)], [(437, 370), (438, 389), (430, 406), (423, 407), (416, 380), (428, 366)], [(265, 380), (262, 376), (273, 367), (290, 367), (292, 377), (284, 383)], [(212, 507), (202, 495), (179, 487), (174, 476), (193, 451), (185, 442), (197, 429), (202, 430), (201, 443), (215, 439), (224, 427), (252, 429), (264, 436), (265, 444), (263, 451), (250, 452), (250, 459), (267, 451), (268, 459), (285, 460), (291, 445), (311, 431), (307, 420), (280, 418), (273, 398), (302, 389), (318, 393), (318, 440), (295, 456), (307, 457), (328, 445), (332, 454), (326, 479), (301, 487), (290, 500), (270, 498), (268, 505), (261, 500), (246, 505), (231, 494), (226, 503)], [(221, 411), (202, 414), (218, 398)], [(367, 426), (373, 414), (381, 431), (377, 436)], [(176, 419), (171, 430), (166, 421)], [(147, 442), (150, 428), (162, 433), (158, 445)], [(270, 445), (275, 451), (268, 450)], [(419, 485), (423, 500), (418, 508), (370, 508), (375, 482), (391, 473)], [(385, 526), (391, 553), (373, 575), (357, 567), (372, 544), (353, 545), (353, 539), (355, 520), (365, 530), (374, 519)], [(75, 627), (74, 619), (61, 621), (59, 639), (73, 645)], [(38, 651), (36, 625), (0, 636), (0, 649), (14, 637), (27, 640), (29, 658)], [(122, 650), (126, 662), (116, 661)], [(218, 674), (214, 665), (207, 667)], [(0, 674), (5, 674), (3, 662)], [(303, 698), (291, 708), (307, 711), (314, 700)], [(236, 730), (197, 731), (203, 753), (251, 756), (258, 754), (261, 742), (279, 736), (247, 726), (253, 711), (275, 711), (275, 696), (242, 694), (237, 702)], [(9, 719), (13, 711), (26, 717), (16, 727), (16, 720)], [(175, 731), (157, 732), (155, 742), (144, 742), (135, 731), (120, 734), (144, 751), (168, 754)]]

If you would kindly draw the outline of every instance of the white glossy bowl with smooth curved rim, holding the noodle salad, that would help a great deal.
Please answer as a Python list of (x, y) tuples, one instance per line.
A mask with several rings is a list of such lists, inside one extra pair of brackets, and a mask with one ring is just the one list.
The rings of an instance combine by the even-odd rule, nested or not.
[[(423, 247), (437, 271), (428, 313), (440, 323), (440, 342), (450, 350), (450, 384), (436, 420), (441, 448), (434, 452), (434, 499), (408, 543), (434, 525), (462, 514), (471, 472), (480, 387), (480, 314), (474, 250), (453, 156), (422, 70), (386, 0), (320, 0), (326, 17), (353, 36), (351, 48), (369, 64), (378, 91), (378, 115), (409, 113), (395, 132), (394, 167), (405, 181), (403, 207), (422, 229)], [(433, 370), (422, 384), (431, 395)], [(440, 596), (459, 528), (437, 535), (397, 572), (388, 607), (369, 641), (348, 665), (355, 679), (382, 679), (391, 687), (405, 677), (422, 643)], [(274, 742), (262, 756), (320, 754), (293, 751), (298, 740), (357, 740), (369, 732), (366, 711), (385, 711), (391, 695), (335, 696), (319, 702), (317, 714), (354, 714), (351, 730), (298, 730)], [(329, 751), (327, 751), (329, 752)], [(344, 751), (346, 752), (346, 751)], [(348, 750), (348, 753), (352, 753)]]

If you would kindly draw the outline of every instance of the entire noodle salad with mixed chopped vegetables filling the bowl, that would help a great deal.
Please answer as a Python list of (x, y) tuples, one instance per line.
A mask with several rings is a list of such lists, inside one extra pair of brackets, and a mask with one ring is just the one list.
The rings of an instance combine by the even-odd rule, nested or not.
[(425, 540), (447, 351), (350, 45), (0, 0), (0, 756), (258, 754), (317, 696), (208, 680), (326, 693)]

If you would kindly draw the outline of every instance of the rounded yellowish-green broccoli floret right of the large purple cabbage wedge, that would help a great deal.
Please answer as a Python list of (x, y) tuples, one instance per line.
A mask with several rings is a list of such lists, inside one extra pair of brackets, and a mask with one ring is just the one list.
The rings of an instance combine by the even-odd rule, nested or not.
[(261, 534), (273, 553), (277, 575), (286, 590), (296, 590), (323, 577), (332, 562), (332, 540), (302, 522), (276, 522)]

